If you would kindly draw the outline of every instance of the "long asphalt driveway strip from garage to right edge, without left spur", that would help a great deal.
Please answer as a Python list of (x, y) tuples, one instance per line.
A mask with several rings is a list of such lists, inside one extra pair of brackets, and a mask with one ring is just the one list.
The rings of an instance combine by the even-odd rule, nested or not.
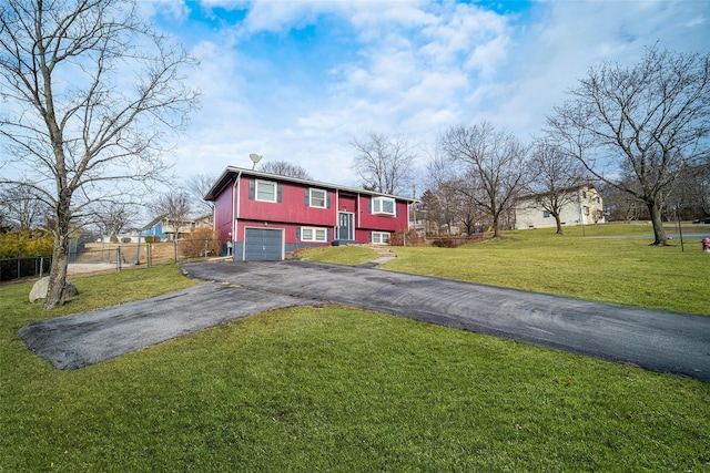
[(192, 263), (190, 277), (410, 318), (710, 382), (710, 317), (310, 261)]

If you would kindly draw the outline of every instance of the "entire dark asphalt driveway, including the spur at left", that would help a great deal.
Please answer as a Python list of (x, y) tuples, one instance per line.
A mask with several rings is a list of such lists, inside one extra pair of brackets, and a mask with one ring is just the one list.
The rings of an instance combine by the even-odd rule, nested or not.
[[(710, 382), (710, 317), (308, 261), (193, 263), (182, 268), (213, 284), (172, 299), (34, 322), (20, 335), (54, 366), (73, 369), (250, 313), (334, 302)], [(126, 317), (129, 321), (121, 321)], [(109, 322), (110, 330), (102, 327)], [(71, 343), (62, 341), (74, 328)], [(132, 342), (123, 349), (104, 347), (102, 331), (114, 345)], [(156, 331), (161, 336), (153, 341)], [(102, 353), (83, 348), (88, 333), (97, 337), (91, 345)]]

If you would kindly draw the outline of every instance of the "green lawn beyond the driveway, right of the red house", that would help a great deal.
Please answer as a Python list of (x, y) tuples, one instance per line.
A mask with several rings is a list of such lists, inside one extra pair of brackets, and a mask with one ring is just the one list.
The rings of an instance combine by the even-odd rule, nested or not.
[[(672, 227), (668, 228), (673, 232)], [(707, 232), (704, 225), (684, 232)], [(536, 292), (710, 315), (710, 255), (699, 238), (650, 247), (650, 225), (597, 225), (507, 232), (460, 248), (396, 247), (384, 268)], [(307, 257), (307, 255), (306, 255)]]

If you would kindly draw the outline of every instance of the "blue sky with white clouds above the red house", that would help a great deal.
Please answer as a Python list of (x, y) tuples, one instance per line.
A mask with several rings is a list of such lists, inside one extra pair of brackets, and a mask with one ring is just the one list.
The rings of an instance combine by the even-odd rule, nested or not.
[(708, 1), (143, 1), (201, 61), (202, 107), (175, 171), (251, 167), (250, 153), (357, 185), (349, 142), (489, 121), (527, 142), (602, 61), (646, 47), (710, 51)]

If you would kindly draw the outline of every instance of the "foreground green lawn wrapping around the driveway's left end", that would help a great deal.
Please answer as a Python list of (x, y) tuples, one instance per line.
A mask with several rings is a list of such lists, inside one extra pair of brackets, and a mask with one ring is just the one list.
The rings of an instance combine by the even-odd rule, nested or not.
[(0, 472), (710, 471), (710, 384), (341, 306), (60, 371), (20, 327), (195, 281), (74, 284), (52, 312), (0, 286)]

